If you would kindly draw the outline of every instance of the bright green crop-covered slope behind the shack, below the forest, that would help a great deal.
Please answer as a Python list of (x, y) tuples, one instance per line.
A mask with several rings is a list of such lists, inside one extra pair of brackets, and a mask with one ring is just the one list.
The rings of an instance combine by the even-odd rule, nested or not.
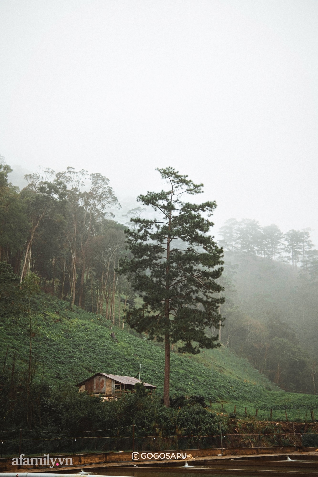
[[(65, 385), (66, 389), (96, 372), (136, 376), (141, 363), (143, 381), (157, 385), (162, 395), (164, 379), (164, 349), (160, 343), (146, 336), (112, 326), (118, 342), (110, 336), (111, 322), (100, 315), (74, 307), (48, 295), (36, 299), (40, 312), (34, 318), (32, 353), (36, 357), (37, 371), (34, 381), (42, 379), (51, 388)], [(12, 357), (16, 353), (15, 372), (26, 371), (28, 359), (28, 323), (22, 318), (1, 319), (0, 349), (2, 363), (9, 345), (5, 370), (12, 371)], [(212, 410), (267, 419), (270, 408), (273, 419), (303, 420), (310, 409), (318, 407), (313, 395), (291, 394), (277, 391), (244, 358), (222, 346), (206, 350), (199, 355), (172, 353), (171, 396), (201, 395)]]

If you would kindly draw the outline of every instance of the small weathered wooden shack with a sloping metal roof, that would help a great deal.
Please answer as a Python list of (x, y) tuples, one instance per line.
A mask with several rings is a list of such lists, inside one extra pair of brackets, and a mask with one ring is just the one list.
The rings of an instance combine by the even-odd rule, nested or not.
[[(114, 399), (122, 393), (135, 392), (135, 384), (141, 383), (140, 379), (131, 376), (118, 376), (117, 374), (96, 373), (79, 384), (79, 392), (99, 395), (106, 400)], [(152, 384), (144, 383), (149, 393), (156, 389)]]

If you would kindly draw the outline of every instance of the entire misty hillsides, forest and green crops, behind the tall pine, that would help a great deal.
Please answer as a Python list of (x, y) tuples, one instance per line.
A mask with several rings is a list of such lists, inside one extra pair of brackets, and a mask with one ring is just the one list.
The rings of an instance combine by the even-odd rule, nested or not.
[[(163, 350), (125, 321), (140, 298), (117, 272), (127, 250), (125, 227), (111, 214), (120, 205), (109, 180), (70, 167), (46, 169), (26, 176), (29, 185), (19, 191), (8, 183), (10, 171), (0, 165), (0, 339), (8, 392), (15, 373), (29, 395), (33, 379), (74, 387), (97, 371), (136, 375), (141, 362), (142, 378), (160, 394)], [(171, 395), (199, 394), (265, 414), (281, 401), (279, 385), (316, 394), (317, 251), (308, 230), (283, 236), (276, 226), (231, 219), (221, 232), (223, 346), (198, 356), (172, 353)]]

